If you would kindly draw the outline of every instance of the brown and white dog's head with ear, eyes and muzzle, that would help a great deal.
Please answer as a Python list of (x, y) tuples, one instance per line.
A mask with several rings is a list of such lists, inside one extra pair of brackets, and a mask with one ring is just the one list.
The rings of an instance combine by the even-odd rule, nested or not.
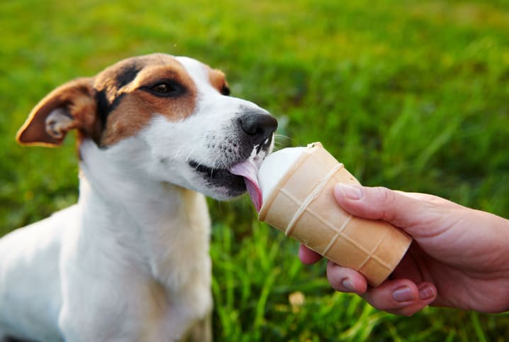
[(93, 141), (123, 167), (229, 199), (246, 189), (230, 168), (262, 160), (277, 127), (267, 111), (229, 94), (223, 72), (189, 57), (132, 57), (55, 89), (17, 138), (57, 146), (76, 129), (79, 144)]

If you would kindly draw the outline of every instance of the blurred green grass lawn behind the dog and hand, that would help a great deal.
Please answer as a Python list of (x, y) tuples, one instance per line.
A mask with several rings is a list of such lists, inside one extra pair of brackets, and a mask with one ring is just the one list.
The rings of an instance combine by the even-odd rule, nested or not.
[[(278, 148), (320, 140), (364, 184), (509, 217), (509, 2), (35, 1), (0, 4), (0, 233), (77, 199), (74, 142), (21, 148), (30, 109), (131, 55), (189, 55), (279, 118)], [(210, 201), (216, 341), (509, 341), (509, 315), (411, 318), (335, 293), (325, 264)]]

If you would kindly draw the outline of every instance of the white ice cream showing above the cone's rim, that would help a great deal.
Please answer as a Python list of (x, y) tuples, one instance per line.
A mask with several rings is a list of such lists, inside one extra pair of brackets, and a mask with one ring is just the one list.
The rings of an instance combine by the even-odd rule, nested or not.
[(307, 150), (304, 147), (283, 148), (276, 151), (262, 162), (262, 166), (258, 170), (258, 183), (262, 190), (262, 202), (264, 203), (267, 196), (272, 192), (278, 184), (281, 177), (290, 169), (296, 160)]

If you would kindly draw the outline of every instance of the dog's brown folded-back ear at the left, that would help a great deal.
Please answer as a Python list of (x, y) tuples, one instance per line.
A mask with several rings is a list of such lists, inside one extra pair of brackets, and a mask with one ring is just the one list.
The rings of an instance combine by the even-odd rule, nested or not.
[(74, 79), (47, 94), (18, 131), (18, 143), (55, 147), (72, 129), (96, 138), (101, 123), (92, 82), (90, 78)]

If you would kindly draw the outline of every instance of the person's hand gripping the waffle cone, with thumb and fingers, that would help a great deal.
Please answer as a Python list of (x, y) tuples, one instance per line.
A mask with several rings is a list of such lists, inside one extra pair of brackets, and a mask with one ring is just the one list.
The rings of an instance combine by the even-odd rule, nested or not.
[[(483, 312), (509, 310), (509, 220), (429, 194), (337, 184), (337, 203), (354, 216), (386, 221), (414, 238), (379, 287), (328, 262), (330, 285), (377, 309), (410, 316), (428, 304)], [(321, 256), (301, 245), (301, 261)]]

